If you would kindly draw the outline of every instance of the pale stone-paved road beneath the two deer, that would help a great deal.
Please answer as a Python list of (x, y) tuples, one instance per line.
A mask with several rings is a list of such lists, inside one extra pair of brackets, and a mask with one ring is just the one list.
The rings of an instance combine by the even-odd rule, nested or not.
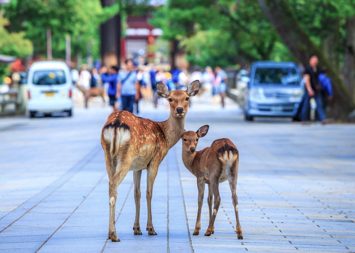
[[(140, 116), (165, 120), (164, 106)], [(235, 232), (228, 183), (220, 184), (215, 233), (207, 187), (199, 236), (196, 179), (178, 142), (160, 165), (152, 216), (157, 236), (134, 236), (132, 172), (118, 188), (116, 230), (107, 241), (108, 178), (99, 144), (109, 108), (73, 118), (0, 119), (1, 252), (355, 252), (355, 125), (303, 126), (287, 120), (246, 123), (233, 103), (221, 111), (198, 103), (186, 130), (209, 124), (198, 150), (228, 137), (240, 152), (237, 195), (243, 240)], [(147, 220), (142, 175), (141, 226)]]

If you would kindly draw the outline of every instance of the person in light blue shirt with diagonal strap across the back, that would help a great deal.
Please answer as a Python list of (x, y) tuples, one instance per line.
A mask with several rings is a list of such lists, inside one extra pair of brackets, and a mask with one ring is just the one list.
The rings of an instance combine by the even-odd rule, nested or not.
[(133, 113), (133, 104), (140, 98), (140, 90), (133, 61), (126, 60), (125, 64), (125, 68), (118, 73), (116, 98), (122, 99), (122, 110)]

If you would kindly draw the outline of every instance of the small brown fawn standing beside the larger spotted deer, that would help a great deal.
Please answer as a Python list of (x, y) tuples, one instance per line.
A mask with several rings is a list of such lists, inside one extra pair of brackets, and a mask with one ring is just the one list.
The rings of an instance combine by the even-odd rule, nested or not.
[[(198, 212), (193, 235), (197, 236), (201, 229), (201, 209), (205, 184), (208, 184), (207, 203), (209, 208), (209, 225), (204, 235), (210, 236), (214, 233), (214, 220), (220, 203), (218, 184), (228, 180), (232, 191), (235, 218), (237, 220), (237, 237), (238, 239), (243, 239), (238, 217), (238, 197), (235, 193), (238, 177), (239, 152), (233, 142), (226, 138), (215, 140), (210, 147), (196, 151), (198, 138), (205, 136), (208, 128), (208, 125), (204, 125), (201, 126), (197, 132), (184, 130), (181, 137), (182, 161), (186, 168), (197, 177)], [(212, 213), (213, 195), (214, 206)]]

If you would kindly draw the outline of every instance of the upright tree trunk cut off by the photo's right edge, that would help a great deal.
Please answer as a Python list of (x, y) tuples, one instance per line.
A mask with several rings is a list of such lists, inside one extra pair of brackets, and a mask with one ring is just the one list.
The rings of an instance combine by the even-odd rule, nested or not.
[(355, 17), (346, 20), (343, 80), (355, 101)]

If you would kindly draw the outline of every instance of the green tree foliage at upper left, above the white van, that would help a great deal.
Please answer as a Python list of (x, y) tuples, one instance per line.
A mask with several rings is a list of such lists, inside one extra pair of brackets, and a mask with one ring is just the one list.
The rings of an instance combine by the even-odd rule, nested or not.
[(35, 54), (45, 56), (46, 30), (50, 28), (54, 58), (65, 58), (65, 37), (70, 35), (72, 55), (85, 55), (91, 43), (97, 59), (99, 25), (117, 14), (119, 5), (102, 8), (99, 0), (12, 0), (4, 9), (11, 21), (8, 29), (26, 32)]

